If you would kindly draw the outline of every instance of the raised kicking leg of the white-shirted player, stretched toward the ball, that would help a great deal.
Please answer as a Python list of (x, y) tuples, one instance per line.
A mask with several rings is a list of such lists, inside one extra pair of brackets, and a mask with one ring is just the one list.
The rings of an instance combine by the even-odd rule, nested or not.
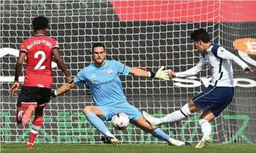
[(143, 116), (153, 129), (156, 129), (162, 124), (176, 123), (182, 121), (186, 119), (187, 116), (191, 115), (191, 113), (198, 112), (201, 109), (208, 110), (211, 107), (208, 101), (209, 98), (214, 98), (214, 96), (216, 96), (213, 96), (213, 94), (215, 93), (214, 88), (215, 87), (209, 85), (209, 87), (204, 88), (201, 93), (195, 95), (192, 101), (184, 105), (180, 110), (176, 110), (175, 112), (168, 114), (164, 118), (153, 118), (146, 112), (143, 112)]

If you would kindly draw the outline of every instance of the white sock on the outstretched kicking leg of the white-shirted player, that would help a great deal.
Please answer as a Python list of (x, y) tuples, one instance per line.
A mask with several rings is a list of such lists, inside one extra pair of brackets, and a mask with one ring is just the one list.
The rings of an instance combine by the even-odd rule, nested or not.
[(165, 123), (176, 123), (178, 121), (182, 121), (187, 118), (191, 114), (189, 110), (189, 105), (184, 105), (180, 110), (176, 110), (173, 113), (168, 114), (164, 118), (156, 118), (154, 119), (154, 123), (159, 126)]

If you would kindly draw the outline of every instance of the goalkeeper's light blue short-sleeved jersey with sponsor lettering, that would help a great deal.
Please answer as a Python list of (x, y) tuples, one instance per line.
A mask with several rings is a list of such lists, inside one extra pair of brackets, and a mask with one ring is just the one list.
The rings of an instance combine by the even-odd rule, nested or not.
[(130, 67), (116, 60), (105, 60), (103, 66), (92, 63), (83, 68), (75, 77), (76, 84), (88, 82), (95, 105), (116, 105), (126, 102), (118, 74), (128, 75)]

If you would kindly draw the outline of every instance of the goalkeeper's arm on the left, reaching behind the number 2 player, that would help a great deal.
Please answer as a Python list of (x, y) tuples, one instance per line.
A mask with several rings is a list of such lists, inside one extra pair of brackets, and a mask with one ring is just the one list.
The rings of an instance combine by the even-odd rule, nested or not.
[(70, 91), (72, 88), (77, 87), (77, 85), (85, 84), (86, 82), (86, 76), (84, 74), (84, 69), (82, 69), (77, 76), (73, 79), (72, 84), (66, 83), (59, 87), (57, 90), (51, 92), (51, 99), (55, 98), (56, 96), (59, 96), (61, 94), (67, 93), (67, 91)]

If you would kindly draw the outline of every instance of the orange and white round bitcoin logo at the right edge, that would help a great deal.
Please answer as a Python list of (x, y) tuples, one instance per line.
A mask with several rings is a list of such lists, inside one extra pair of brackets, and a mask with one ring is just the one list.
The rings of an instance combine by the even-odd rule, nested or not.
[(255, 38), (241, 38), (235, 40), (233, 41), (233, 46), (235, 49), (238, 49), (238, 54), (244, 61), (256, 66), (256, 60), (250, 57), (251, 55), (256, 55)]

